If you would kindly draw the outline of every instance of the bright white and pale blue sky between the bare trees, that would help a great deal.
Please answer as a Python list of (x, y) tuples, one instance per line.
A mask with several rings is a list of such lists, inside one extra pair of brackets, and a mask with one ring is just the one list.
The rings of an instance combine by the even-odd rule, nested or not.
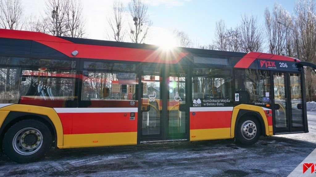
[[(127, 5), (129, 0), (122, 0)], [(293, 13), (294, 0), (145, 0), (153, 21), (152, 31), (146, 43), (161, 43), (168, 40), (173, 29), (185, 31), (189, 37), (200, 44), (213, 40), (216, 21), (225, 20), (226, 26), (234, 27), (240, 22), (241, 14), (257, 15), (264, 22), (264, 10), (272, 9), (274, 3)], [(23, 0), (26, 15), (44, 15), (43, 0)], [(82, 0), (86, 16), (87, 37), (106, 40), (106, 16), (112, 8), (112, 0)], [(166, 37), (167, 36), (167, 37)]]

